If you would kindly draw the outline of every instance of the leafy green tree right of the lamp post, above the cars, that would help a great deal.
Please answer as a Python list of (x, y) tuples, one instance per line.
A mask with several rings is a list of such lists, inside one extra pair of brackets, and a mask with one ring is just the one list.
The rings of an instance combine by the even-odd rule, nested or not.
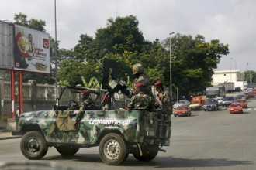
[[(168, 49), (169, 39), (164, 46)], [(172, 86), (177, 87), (182, 95), (202, 92), (210, 86), (213, 69), (217, 68), (222, 55), (229, 53), (228, 45), (213, 39), (206, 42), (202, 35), (182, 36), (176, 34), (171, 39)]]

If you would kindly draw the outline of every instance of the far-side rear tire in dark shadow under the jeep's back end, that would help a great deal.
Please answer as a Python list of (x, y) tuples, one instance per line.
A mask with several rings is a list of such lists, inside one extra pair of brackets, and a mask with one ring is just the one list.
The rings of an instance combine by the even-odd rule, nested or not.
[(134, 158), (137, 158), (139, 161), (143, 162), (150, 162), (152, 159), (154, 159), (158, 154), (158, 145), (150, 145), (150, 146), (144, 146), (140, 147), (142, 155), (140, 155), (140, 150), (137, 148), (137, 151), (133, 152)]

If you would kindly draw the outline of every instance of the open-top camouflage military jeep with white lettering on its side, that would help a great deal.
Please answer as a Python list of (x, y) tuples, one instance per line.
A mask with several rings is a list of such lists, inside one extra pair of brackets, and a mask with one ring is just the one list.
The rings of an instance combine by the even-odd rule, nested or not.
[(101, 110), (99, 93), (91, 91), (95, 106), (74, 120), (81, 90), (67, 87), (53, 110), (31, 111), (19, 116), (22, 135), (20, 149), (28, 159), (40, 159), (54, 147), (61, 155), (74, 155), (79, 148), (99, 146), (99, 155), (107, 165), (119, 165), (132, 154), (140, 161), (150, 161), (163, 146), (170, 145), (171, 114), (141, 110)]

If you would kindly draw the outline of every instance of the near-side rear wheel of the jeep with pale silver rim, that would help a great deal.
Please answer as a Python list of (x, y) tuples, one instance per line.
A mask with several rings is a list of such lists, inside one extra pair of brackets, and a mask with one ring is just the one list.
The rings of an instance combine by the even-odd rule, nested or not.
[(99, 142), (99, 155), (107, 165), (120, 165), (128, 158), (126, 142), (119, 134), (106, 134)]

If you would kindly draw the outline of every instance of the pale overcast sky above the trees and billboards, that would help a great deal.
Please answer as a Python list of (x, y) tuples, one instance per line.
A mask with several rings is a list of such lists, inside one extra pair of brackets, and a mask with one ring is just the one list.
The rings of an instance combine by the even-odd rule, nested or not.
[[(229, 44), (216, 70), (254, 70), (256, 64), (255, 0), (56, 0), (57, 40), (71, 49), (81, 34), (95, 36), (107, 19), (134, 15), (149, 41), (166, 39), (170, 32), (202, 35), (209, 42)], [(0, 20), (13, 22), (22, 12), (28, 19), (42, 19), (55, 37), (54, 0), (2, 0)]]

